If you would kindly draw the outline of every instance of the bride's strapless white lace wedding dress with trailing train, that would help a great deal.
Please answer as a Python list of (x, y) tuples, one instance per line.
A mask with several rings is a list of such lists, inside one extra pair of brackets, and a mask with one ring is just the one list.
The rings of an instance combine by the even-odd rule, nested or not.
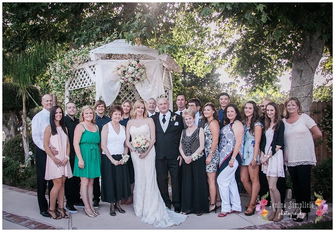
[[(148, 125), (140, 127), (131, 126), (130, 135), (145, 135), (150, 139), (150, 129)], [(137, 152), (131, 152), (131, 158), (135, 170), (134, 187), (134, 210), (137, 217), (142, 217), (141, 221), (153, 224), (155, 227), (168, 227), (179, 225), (184, 222), (187, 215), (178, 214), (168, 209), (157, 186), (155, 169), (155, 148), (152, 147), (149, 154), (141, 159)]]

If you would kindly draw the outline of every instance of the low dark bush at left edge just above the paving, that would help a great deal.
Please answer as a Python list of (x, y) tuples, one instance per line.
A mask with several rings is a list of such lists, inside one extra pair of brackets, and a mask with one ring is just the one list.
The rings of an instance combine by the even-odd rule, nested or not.
[[(22, 153), (24, 160), (24, 153)], [(2, 158), (2, 182), (3, 184), (14, 185), (17, 183), (17, 172), (20, 163), (14, 158)]]

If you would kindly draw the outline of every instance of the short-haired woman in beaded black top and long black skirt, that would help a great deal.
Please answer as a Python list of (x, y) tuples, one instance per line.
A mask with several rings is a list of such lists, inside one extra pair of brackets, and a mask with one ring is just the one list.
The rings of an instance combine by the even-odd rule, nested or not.
[[(182, 179), (182, 214), (208, 213), (208, 190), (206, 176), (206, 156), (203, 152), (205, 134), (201, 127), (194, 124), (195, 114), (192, 109), (183, 112), (187, 129), (184, 129), (180, 139), (179, 151), (183, 157)], [(192, 154), (201, 156), (192, 160)]]

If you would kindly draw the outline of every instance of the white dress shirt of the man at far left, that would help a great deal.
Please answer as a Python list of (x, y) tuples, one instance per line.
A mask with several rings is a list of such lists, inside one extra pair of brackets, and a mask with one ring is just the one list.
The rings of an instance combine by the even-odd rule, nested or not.
[(44, 131), (48, 125), (50, 125), (50, 112), (43, 108), (31, 120), (32, 141), (43, 151), (45, 151), (43, 147)]

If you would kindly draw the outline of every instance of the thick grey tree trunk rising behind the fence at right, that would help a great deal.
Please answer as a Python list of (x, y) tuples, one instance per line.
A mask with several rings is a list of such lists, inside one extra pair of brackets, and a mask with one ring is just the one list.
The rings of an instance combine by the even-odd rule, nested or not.
[(313, 100), (313, 84), (325, 47), (319, 31), (304, 32), (301, 49), (292, 55), (292, 76), (290, 96), (297, 97), (303, 111), (310, 115)]

